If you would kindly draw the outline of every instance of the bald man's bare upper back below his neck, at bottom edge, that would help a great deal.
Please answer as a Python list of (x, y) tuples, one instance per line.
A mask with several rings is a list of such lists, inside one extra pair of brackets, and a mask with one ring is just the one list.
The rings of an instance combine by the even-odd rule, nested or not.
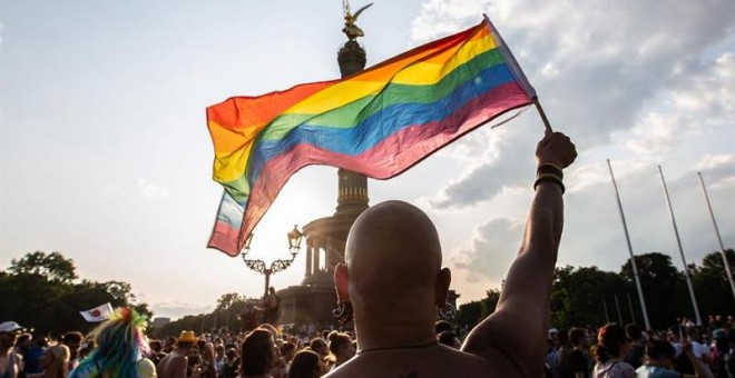
[(442, 345), (427, 349), (362, 352), (326, 377), (512, 377), (489, 358)]

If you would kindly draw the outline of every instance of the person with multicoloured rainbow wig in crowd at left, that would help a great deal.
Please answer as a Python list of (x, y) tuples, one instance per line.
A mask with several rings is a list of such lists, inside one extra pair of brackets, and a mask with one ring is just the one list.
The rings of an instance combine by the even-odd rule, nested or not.
[(156, 377), (155, 365), (145, 357), (150, 352), (144, 334), (147, 325), (147, 318), (135, 309), (117, 308), (92, 330), (97, 347), (69, 377)]

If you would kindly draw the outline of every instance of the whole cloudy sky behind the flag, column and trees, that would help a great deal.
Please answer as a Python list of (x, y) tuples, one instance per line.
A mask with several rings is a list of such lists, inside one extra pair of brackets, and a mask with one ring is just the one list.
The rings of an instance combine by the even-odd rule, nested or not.
[[(697, 172), (735, 247), (734, 1), (375, 0), (357, 21), (367, 66), (483, 13), (579, 152), (565, 171), (558, 266), (619, 271), (629, 258), (608, 159), (634, 253), (683, 267), (659, 166), (686, 261), (719, 249)], [(81, 278), (127, 281), (171, 318), (210, 311), (227, 292), (259, 297), (263, 276), (206, 248), (222, 187), (205, 109), (339, 78), (342, 17), (337, 0), (3, 0), (0, 269), (60, 251)], [(499, 288), (518, 251), (542, 135), (529, 108), (369, 180), (371, 203), (401, 199), (434, 221), (460, 304)], [(251, 257), (287, 258), (285, 233), (331, 216), (336, 190), (335, 168), (293, 176)], [(302, 248), (271, 284), (300, 285), (304, 260)]]

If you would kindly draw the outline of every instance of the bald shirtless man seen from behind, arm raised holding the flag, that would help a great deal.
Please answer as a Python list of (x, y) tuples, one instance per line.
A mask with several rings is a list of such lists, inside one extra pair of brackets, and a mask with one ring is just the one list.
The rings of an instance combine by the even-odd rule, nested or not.
[(536, 158), (539, 180), (526, 232), (496, 312), (461, 350), (439, 345), (437, 307), (451, 273), (441, 268), (437, 229), (401, 201), (364, 211), (334, 272), (340, 302), (354, 309), (357, 354), (329, 377), (541, 377), (550, 290), (564, 223), (561, 169), (577, 157), (562, 133), (547, 133)]

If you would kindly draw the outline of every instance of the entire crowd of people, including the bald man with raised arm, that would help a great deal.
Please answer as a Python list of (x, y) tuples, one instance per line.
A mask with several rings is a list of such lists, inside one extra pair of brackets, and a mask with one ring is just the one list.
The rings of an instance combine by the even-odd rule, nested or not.
[[(549, 331), (564, 228), (564, 169), (576, 157), (575, 145), (559, 132), (547, 131), (537, 145), (536, 193), (517, 258), (494, 312), (467, 335), (437, 322), (451, 271), (441, 267), (433, 222), (410, 203), (386, 201), (357, 217), (345, 262), (334, 271), (334, 316), (353, 324), (354, 331), (295, 336), (274, 327), (273, 311), (247, 332), (182, 331), (148, 340), (145, 319), (121, 308), (91, 337), (70, 332), (69, 339), (65, 335), (48, 345), (19, 336), (22, 327), (9, 321), (0, 325), (0, 378), (733, 377), (732, 321), (710, 334), (678, 327), (649, 335), (620, 325), (598, 334)], [(703, 339), (708, 335), (712, 344)]]

